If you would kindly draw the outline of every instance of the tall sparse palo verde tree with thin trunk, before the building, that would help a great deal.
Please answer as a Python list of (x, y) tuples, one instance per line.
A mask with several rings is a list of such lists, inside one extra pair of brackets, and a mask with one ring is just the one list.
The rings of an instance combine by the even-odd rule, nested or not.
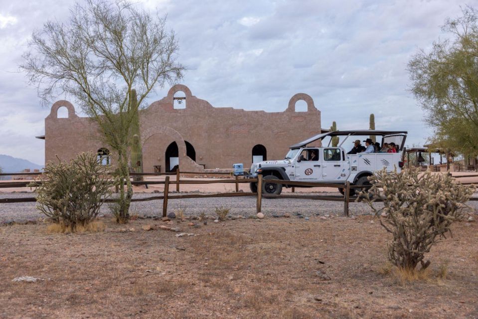
[(133, 196), (128, 161), (135, 117), (155, 88), (182, 77), (177, 51), (165, 18), (127, 1), (86, 0), (72, 8), (67, 22), (48, 21), (34, 31), (24, 54), (20, 68), (39, 97), (74, 97), (116, 153), (118, 222), (128, 221)]

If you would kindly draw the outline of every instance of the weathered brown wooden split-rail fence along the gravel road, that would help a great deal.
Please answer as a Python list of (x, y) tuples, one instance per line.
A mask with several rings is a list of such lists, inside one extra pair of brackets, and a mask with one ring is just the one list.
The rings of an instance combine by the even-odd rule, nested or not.
[[(130, 173), (131, 176), (159, 176), (166, 175), (164, 180), (143, 180), (143, 181), (131, 181), (133, 185), (164, 185), (163, 195), (150, 196), (146, 198), (133, 198), (132, 202), (140, 201), (150, 201), (150, 200), (159, 200), (162, 199), (162, 216), (166, 216), (167, 213), (167, 204), (169, 200), (173, 199), (186, 199), (186, 198), (211, 198), (211, 197), (242, 197), (242, 196), (255, 196), (256, 197), (256, 212), (259, 213), (262, 211), (262, 198), (290, 198), (290, 199), (311, 199), (311, 200), (325, 200), (325, 201), (339, 201), (343, 202), (343, 216), (349, 216), (349, 203), (357, 201), (356, 197), (350, 197), (351, 189), (360, 189), (370, 186), (357, 186), (350, 185), (350, 182), (345, 184), (335, 184), (335, 183), (314, 183), (314, 182), (304, 182), (304, 181), (284, 181), (279, 179), (267, 179), (268, 183), (277, 183), (288, 185), (292, 187), (292, 192), (294, 192), (295, 186), (299, 187), (333, 187), (333, 188), (343, 188), (344, 195), (314, 195), (314, 194), (280, 194), (280, 195), (271, 195), (262, 193), (262, 175), (258, 175), (257, 178), (235, 178), (229, 179), (213, 179), (213, 180), (200, 180), (200, 179), (180, 179), (180, 174), (196, 174), (196, 175), (231, 175), (226, 172), (180, 172), (179, 169), (176, 172), (168, 173)], [(41, 172), (25, 172), (25, 173), (2, 173), (0, 176), (4, 175), (41, 175)], [(170, 180), (170, 176), (175, 175), (175, 180)], [(454, 177), (478, 177), (478, 174), (475, 175), (460, 175)], [(12, 181), (12, 182), (0, 182), (0, 188), (11, 188), (11, 187), (27, 187), (30, 186), (32, 182), (40, 183), (41, 180), (25, 180), (25, 181)], [(224, 192), (224, 193), (211, 193), (211, 194), (170, 194), (169, 185), (176, 185), (176, 192), (180, 191), (180, 185), (187, 184), (216, 184), (216, 183), (234, 183), (235, 192)], [(257, 183), (257, 192), (239, 192), (239, 184), (241, 183)], [(474, 183), (462, 183), (462, 184), (474, 184)], [(470, 200), (478, 200), (476, 197), (472, 197)], [(35, 202), (36, 197), (23, 197), (23, 198), (0, 198), (0, 203), (21, 203), (21, 202)], [(115, 202), (113, 198), (108, 198), (105, 202)], [(377, 198), (375, 201), (379, 202), (382, 199)]]

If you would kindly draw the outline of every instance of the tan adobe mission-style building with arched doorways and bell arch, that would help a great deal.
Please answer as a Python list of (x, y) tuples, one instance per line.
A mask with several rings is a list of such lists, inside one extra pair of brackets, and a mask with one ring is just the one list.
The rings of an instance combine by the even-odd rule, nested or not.
[[(178, 97), (179, 96), (179, 97)], [(296, 112), (304, 100), (307, 111)], [(174, 104), (179, 104), (178, 108)], [(60, 108), (68, 110), (58, 118)], [(320, 134), (320, 111), (304, 93), (294, 95), (285, 111), (245, 111), (216, 108), (198, 99), (184, 85), (174, 85), (166, 97), (140, 111), (145, 172), (230, 168), (233, 163), (283, 159), (289, 146)], [(58, 101), (45, 119), (45, 162), (70, 160), (81, 152), (98, 153), (103, 162), (115, 163), (108, 146), (102, 144), (97, 124), (76, 115), (68, 101)], [(110, 158), (111, 157), (111, 158)]]

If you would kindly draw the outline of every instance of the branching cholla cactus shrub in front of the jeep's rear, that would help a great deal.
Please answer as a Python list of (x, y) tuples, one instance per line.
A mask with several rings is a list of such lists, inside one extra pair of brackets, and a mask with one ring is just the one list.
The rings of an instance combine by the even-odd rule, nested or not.
[[(385, 169), (369, 177), (372, 196), (361, 193), (380, 224), (392, 234), (388, 244), (388, 259), (399, 267), (415, 270), (430, 265), (425, 253), (440, 239), (451, 233), (450, 226), (467, 207), (474, 187), (458, 183), (448, 174), (432, 174), (411, 168), (387, 172)], [(374, 207), (377, 198), (383, 199), (383, 208)]]

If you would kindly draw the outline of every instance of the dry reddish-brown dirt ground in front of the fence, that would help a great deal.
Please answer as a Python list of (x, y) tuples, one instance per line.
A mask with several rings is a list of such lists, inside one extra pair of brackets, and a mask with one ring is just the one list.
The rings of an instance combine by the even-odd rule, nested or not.
[(456, 223), (429, 278), (403, 284), (383, 274), (389, 235), (369, 216), (168, 225), (183, 237), (102, 220), (73, 235), (0, 227), (0, 318), (478, 317), (477, 222)]

